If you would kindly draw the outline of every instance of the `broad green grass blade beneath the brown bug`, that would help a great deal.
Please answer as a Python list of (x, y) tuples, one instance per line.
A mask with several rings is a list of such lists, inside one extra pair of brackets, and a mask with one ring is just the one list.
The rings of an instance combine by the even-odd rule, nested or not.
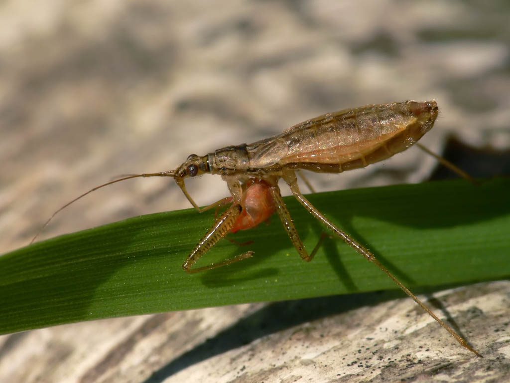
[[(510, 276), (510, 180), (463, 180), (310, 195), (410, 288)], [(305, 246), (323, 228), (286, 198)], [(62, 235), (0, 256), (0, 333), (76, 321), (254, 301), (394, 289), (339, 240), (303, 262), (281, 223), (232, 235), (198, 262), (253, 258), (188, 275), (181, 265), (214, 213), (171, 211)]]

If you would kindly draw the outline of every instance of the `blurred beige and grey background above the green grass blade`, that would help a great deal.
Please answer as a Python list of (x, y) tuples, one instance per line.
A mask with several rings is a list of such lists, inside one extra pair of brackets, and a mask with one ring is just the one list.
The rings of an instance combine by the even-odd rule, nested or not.
[[(510, 3), (481, 0), (4, 1), (0, 254), (115, 176), (365, 104), (435, 99), (421, 142), (474, 176), (508, 174), (509, 17)], [(445, 174), (412, 148), (310, 178), (322, 191)], [(200, 205), (227, 196), (219, 177), (187, 185)], [(130, 180), (67, 208), (39, 239), (188, 207), (171, 180)]]

